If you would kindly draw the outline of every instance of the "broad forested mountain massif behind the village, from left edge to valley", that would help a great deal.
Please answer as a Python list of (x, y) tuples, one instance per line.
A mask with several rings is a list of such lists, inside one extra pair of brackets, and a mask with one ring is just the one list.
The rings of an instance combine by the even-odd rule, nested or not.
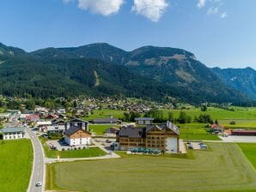
[(99, 43), (30, 53), (5, 45), (0, 50), (0, 94), (4, 95), (87, 94), (157, 101), (171, 96), (193, 104), (249, 100), (226, 86), (192, 53), (180, 49), (144, 46), (123, 51)]

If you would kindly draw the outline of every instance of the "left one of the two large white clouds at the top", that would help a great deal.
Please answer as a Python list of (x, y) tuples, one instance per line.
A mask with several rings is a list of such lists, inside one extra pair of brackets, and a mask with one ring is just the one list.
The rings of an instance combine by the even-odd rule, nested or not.
[[(64, 0), (69, 1), (69, 0)], [(119, 12), (125, 0), (78, 0), (78, 7), (94, 14), (112, 15)]]

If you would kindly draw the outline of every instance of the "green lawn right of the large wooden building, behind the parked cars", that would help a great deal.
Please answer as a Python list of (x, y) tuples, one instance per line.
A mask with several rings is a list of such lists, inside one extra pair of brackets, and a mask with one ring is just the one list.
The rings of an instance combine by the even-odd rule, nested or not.
[(203, 123), (180, 124), (180, 139), (184, 140), (204, 140), (220, 141), (217, 135), (212, 135), (206, 131)]

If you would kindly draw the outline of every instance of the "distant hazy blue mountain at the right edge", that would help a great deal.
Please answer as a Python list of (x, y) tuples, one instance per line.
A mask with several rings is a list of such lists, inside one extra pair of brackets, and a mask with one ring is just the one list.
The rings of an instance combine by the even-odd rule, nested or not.
[(250, 98), (256, 99), (256, 71), (246, 69), (211, 69), (229, 87), (233, 87), (241, 93), (246, 93)]

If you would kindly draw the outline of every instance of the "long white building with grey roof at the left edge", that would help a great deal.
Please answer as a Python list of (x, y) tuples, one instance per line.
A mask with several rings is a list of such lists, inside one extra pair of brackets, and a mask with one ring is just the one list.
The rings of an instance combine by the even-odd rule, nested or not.
[(1, 129), (3, 133), (3, 140), (17, 140), (24, 138), (25, 128), (3, 128)]

